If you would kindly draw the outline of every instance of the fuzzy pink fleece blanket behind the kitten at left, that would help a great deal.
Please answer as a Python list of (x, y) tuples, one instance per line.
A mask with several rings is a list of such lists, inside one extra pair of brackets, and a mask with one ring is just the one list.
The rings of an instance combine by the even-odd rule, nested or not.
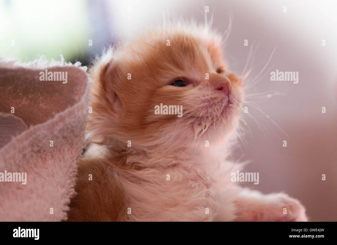
[(80, 63), (0, 56), (0, 221), (67, 219), (89, 99)]

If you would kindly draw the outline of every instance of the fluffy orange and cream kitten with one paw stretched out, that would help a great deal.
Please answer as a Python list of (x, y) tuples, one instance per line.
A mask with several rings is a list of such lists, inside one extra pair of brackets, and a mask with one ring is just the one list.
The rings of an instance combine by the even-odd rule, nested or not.
[[(178, 24), (95, 63), (91, 144), (79, 159), (69, 221), (307, 220), (296, 199), (231, 181), (240, 166), (226, 157), (244, 87), (221, 46), (207, 27)], [(155, 113), (161, 104), (182, 106), (182, 116)]]

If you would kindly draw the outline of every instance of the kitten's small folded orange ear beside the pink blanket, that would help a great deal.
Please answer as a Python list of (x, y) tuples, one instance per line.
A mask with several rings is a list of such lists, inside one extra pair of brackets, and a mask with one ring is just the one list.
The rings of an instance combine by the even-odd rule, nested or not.
[(112, 59), (104, 65), (99, 80), (106, 103), (108, 103), (109, 108), (116, 114), (116, 116), (119, 116), (122, 113), (122, 103), (117, 92), (119, 79), (119, 64), (115, 59)]

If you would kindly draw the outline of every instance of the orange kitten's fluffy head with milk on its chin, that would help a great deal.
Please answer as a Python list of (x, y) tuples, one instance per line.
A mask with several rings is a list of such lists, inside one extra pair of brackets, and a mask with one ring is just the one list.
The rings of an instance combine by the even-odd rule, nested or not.
[(110, 49), (91, 71), (88, 138), (178, 147), (226, 138), (243, 88), (221, 42), (205, 27), (171, 26)]

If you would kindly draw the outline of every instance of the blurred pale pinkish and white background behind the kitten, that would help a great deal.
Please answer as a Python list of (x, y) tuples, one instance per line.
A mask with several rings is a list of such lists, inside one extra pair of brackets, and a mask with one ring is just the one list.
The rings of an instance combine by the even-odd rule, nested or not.
[[(89, 65), (104, 47), (163, 15), (204, 23), (205, 6), (220, 33), (231, 17), (229, 67), (241, 74), (248, 61), (252, 69), (243, 105), (249, 113), (233, 159), (249, 161), (244, 171), (259, 172), (259, 184), (244, 185), (298, 198), (311, 221), (337, 221), (337, 1), (1, 0), (0, 54), (24, 62), (62, 54)], [(271, 81), (276, 69), (298, 71), (298, 84)]]

